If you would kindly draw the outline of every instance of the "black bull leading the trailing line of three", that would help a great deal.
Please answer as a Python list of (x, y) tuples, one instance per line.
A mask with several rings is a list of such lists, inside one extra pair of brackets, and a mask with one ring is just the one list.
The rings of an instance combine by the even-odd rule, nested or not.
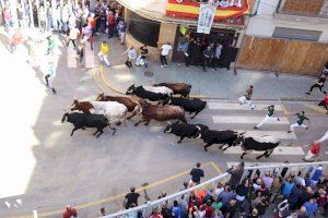
[(187, 124), (187, 123), (169, 123), (165, 129), (164, 133), (172, 133), (176, 136), (179, 136), (180, 140), (177, 143), (181, 143), (185, 137), (192, 138), (196, 136), (196, 133), (199, 131), (199, 126), (203, 129), (208, 128), (202, 124)]

